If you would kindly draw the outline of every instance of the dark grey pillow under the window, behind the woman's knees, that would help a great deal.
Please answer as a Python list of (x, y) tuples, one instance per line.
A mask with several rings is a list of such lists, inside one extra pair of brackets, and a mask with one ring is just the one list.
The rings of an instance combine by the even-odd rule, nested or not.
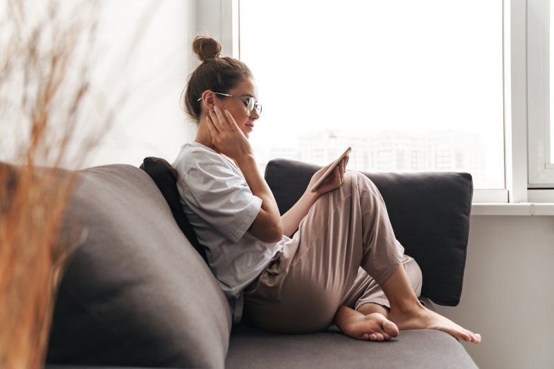
[[(271, 160), (265, 179), (281, 214), (321, 167)], [(462, 293), (473, 183), (469, 173), (364, 173), (382, 193), (397, 240), (422, 269), (422, 294), (455, 306)]]

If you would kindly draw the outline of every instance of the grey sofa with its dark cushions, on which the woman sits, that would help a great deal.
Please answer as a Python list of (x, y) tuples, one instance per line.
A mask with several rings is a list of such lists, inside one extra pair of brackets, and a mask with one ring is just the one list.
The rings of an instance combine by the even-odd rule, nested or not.
[[(476, 368), (443, 332), (401, 332), (387, 343), (357, 341), (336, 327), (274, 334), (231, 312), (203, 249), (175, 203), (163, 160), (141, 170), (115, 164), (80, 172), (63, 239), (86, 235), (66, 269), (48, 346), (51, 368)], [(273, 160), (266, 179), (281, 212), (318, 167)], [(147, 173), (148, 172), (148, 173)], [(423, 273), (422, 299), (461, 296), (472, 199), (467, 173), (367, 173), (386, 202), (395, 234)], [(178, 201), (178, 199), (177, 199)]]

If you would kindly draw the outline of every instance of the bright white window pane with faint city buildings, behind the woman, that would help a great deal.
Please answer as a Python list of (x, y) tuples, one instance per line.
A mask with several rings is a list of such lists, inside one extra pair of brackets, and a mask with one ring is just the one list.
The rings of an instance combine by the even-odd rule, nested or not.
[(502, 1), (240, 1), (258, 160), (469, 171), (503, 188)]

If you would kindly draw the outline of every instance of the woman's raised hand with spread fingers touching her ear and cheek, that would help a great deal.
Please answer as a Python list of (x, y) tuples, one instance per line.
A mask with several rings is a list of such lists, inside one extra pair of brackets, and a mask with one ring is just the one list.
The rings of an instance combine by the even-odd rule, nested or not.
[(217, 106), (206, 115), (206, 123), (212, 135), (212, 144), (220, 153), (238, 161), (244, 155), (252, 155), (252, 146), (242, 133), (229, 111), (222, 112)]

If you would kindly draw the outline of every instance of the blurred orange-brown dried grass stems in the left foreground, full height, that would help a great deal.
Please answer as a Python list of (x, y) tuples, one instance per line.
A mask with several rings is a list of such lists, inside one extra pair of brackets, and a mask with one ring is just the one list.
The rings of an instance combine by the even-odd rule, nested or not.
[[(12, 30), (0, 48), (0, 122), (20, 129), (10, 138), (18, 165), (0, 163), (0, 368), (44, 363), (55, 291), (71, 252), (59, 236), (78, 178), (56, 167), (67, 160), (87, 100), (87, 58), (78, 50), (92, 39), (97, 14), (96, 1), (73, 5), (88, 6), (88, 14), (62, 17), (51, 0), (46, 19), (29, 21), (35, 2), (13, 0), (0, 19)], [(96, 132), (77, 145), (73, 164), (98, 142)]]

